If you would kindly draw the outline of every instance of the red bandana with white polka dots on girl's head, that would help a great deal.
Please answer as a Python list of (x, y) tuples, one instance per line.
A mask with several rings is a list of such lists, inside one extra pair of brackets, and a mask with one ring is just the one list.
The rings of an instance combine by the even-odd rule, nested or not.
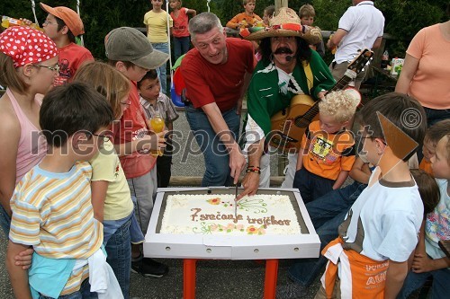
[(43, 32), (29, 27), (13, 26), (0, 34), (0, 50), (12, 57), (14, 66), (49, 60), (58, 55), (58, 48)]

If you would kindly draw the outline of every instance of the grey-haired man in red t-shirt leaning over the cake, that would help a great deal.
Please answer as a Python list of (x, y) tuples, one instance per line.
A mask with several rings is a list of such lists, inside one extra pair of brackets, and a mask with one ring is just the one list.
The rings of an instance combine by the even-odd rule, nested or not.
[(238, 182), (246, 164), (236, 138), (242, 96), (255, 66), (252, 44), (227, 39), (219, 18), (200, 13), (189, 22), (193, 48), (183, 59), (186, 119), (204, 155), (202, 186)]

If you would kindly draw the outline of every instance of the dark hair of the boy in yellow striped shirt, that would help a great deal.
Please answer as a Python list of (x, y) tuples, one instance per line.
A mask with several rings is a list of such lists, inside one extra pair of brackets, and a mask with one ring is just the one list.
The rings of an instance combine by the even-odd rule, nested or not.
[(71, 83), (47, 92), (40, 106), (40, 128), (50, 146), (61, 147), (76, 132), (89, 138), (114, 119), (111, 105), (102, 94), (83, 83)]

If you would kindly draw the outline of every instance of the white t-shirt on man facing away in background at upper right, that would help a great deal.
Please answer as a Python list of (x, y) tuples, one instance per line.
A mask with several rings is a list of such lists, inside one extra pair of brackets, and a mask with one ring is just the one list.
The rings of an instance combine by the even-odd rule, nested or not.
[(339, 20), (338, 28), (347, 31), (340, 41), (335, 59), (338, 64), (353, 60), (359, 49), (372, 48), (378, 37), (383, 36), (384, 16), (372, 1), (363, 1), (348, 7)]

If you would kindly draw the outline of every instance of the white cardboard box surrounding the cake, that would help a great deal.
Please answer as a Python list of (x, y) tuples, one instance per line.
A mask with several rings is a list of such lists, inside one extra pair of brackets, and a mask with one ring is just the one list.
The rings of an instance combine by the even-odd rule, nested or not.
[[(239, 192), (242, 189), (239, 190)], [(205, 235), (159, 233), (170, 194), (234, 194), (234, 188), (166, 188), (157, 190), (144, 243), (144, 256), (174, 259), (302, 259), (317, 258), (320, 239), (298, 189), (258, 189), (258, 194), (288, 195), (302, 233), (291, 235)]]

